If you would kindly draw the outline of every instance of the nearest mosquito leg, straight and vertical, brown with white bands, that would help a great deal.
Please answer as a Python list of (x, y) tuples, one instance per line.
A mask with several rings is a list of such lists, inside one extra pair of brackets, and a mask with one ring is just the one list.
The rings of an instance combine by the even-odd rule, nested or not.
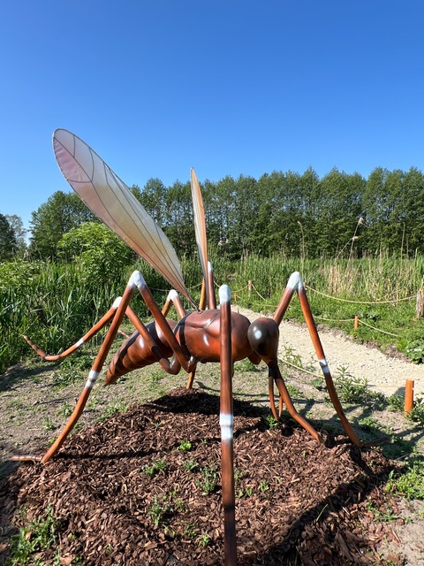
[(231, 291), (223, 285), (219, 289), (221, 328), (221, 470), (223, 489), (223, 556), (226, 566), (237, 564), (236, 500), (234, 490), (234, 447), (232, 407), (232, 356), (231, 356)]

